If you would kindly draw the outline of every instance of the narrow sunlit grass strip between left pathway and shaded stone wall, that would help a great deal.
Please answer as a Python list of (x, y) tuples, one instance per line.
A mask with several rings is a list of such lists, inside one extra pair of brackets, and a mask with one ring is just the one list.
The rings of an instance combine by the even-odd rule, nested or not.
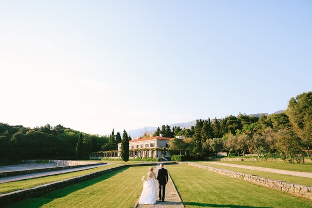
[(48, 184), (51, 182), (69, 179), (69, 178), (73, 178), (76, 176), (82, 176), (82, 175), (94, 173), (97, 171), (109, 169), (112, 167), (121, 166), (121, 165), (122, 164), (106, 165), (106, 166), (101, 166), (98, 168), (92, 168), (92, 169), (88, 169), (88, 170), (84, 170), (84, 171), (77, 171), (77, 172), (73, 172), (73, 173), (66, 173), (66, 174), (60, 174), (60, 175), (54, 175), (54, 176), (45, 176), (45, 177), (41, 177), (41, 178), (3, 183), (3, 184), (0, 184), (0, 194), (13, 192), (13, 191), (21, 190), (21, 189), (29, 189), (29, 188), (39, 186), (42, 184)]

